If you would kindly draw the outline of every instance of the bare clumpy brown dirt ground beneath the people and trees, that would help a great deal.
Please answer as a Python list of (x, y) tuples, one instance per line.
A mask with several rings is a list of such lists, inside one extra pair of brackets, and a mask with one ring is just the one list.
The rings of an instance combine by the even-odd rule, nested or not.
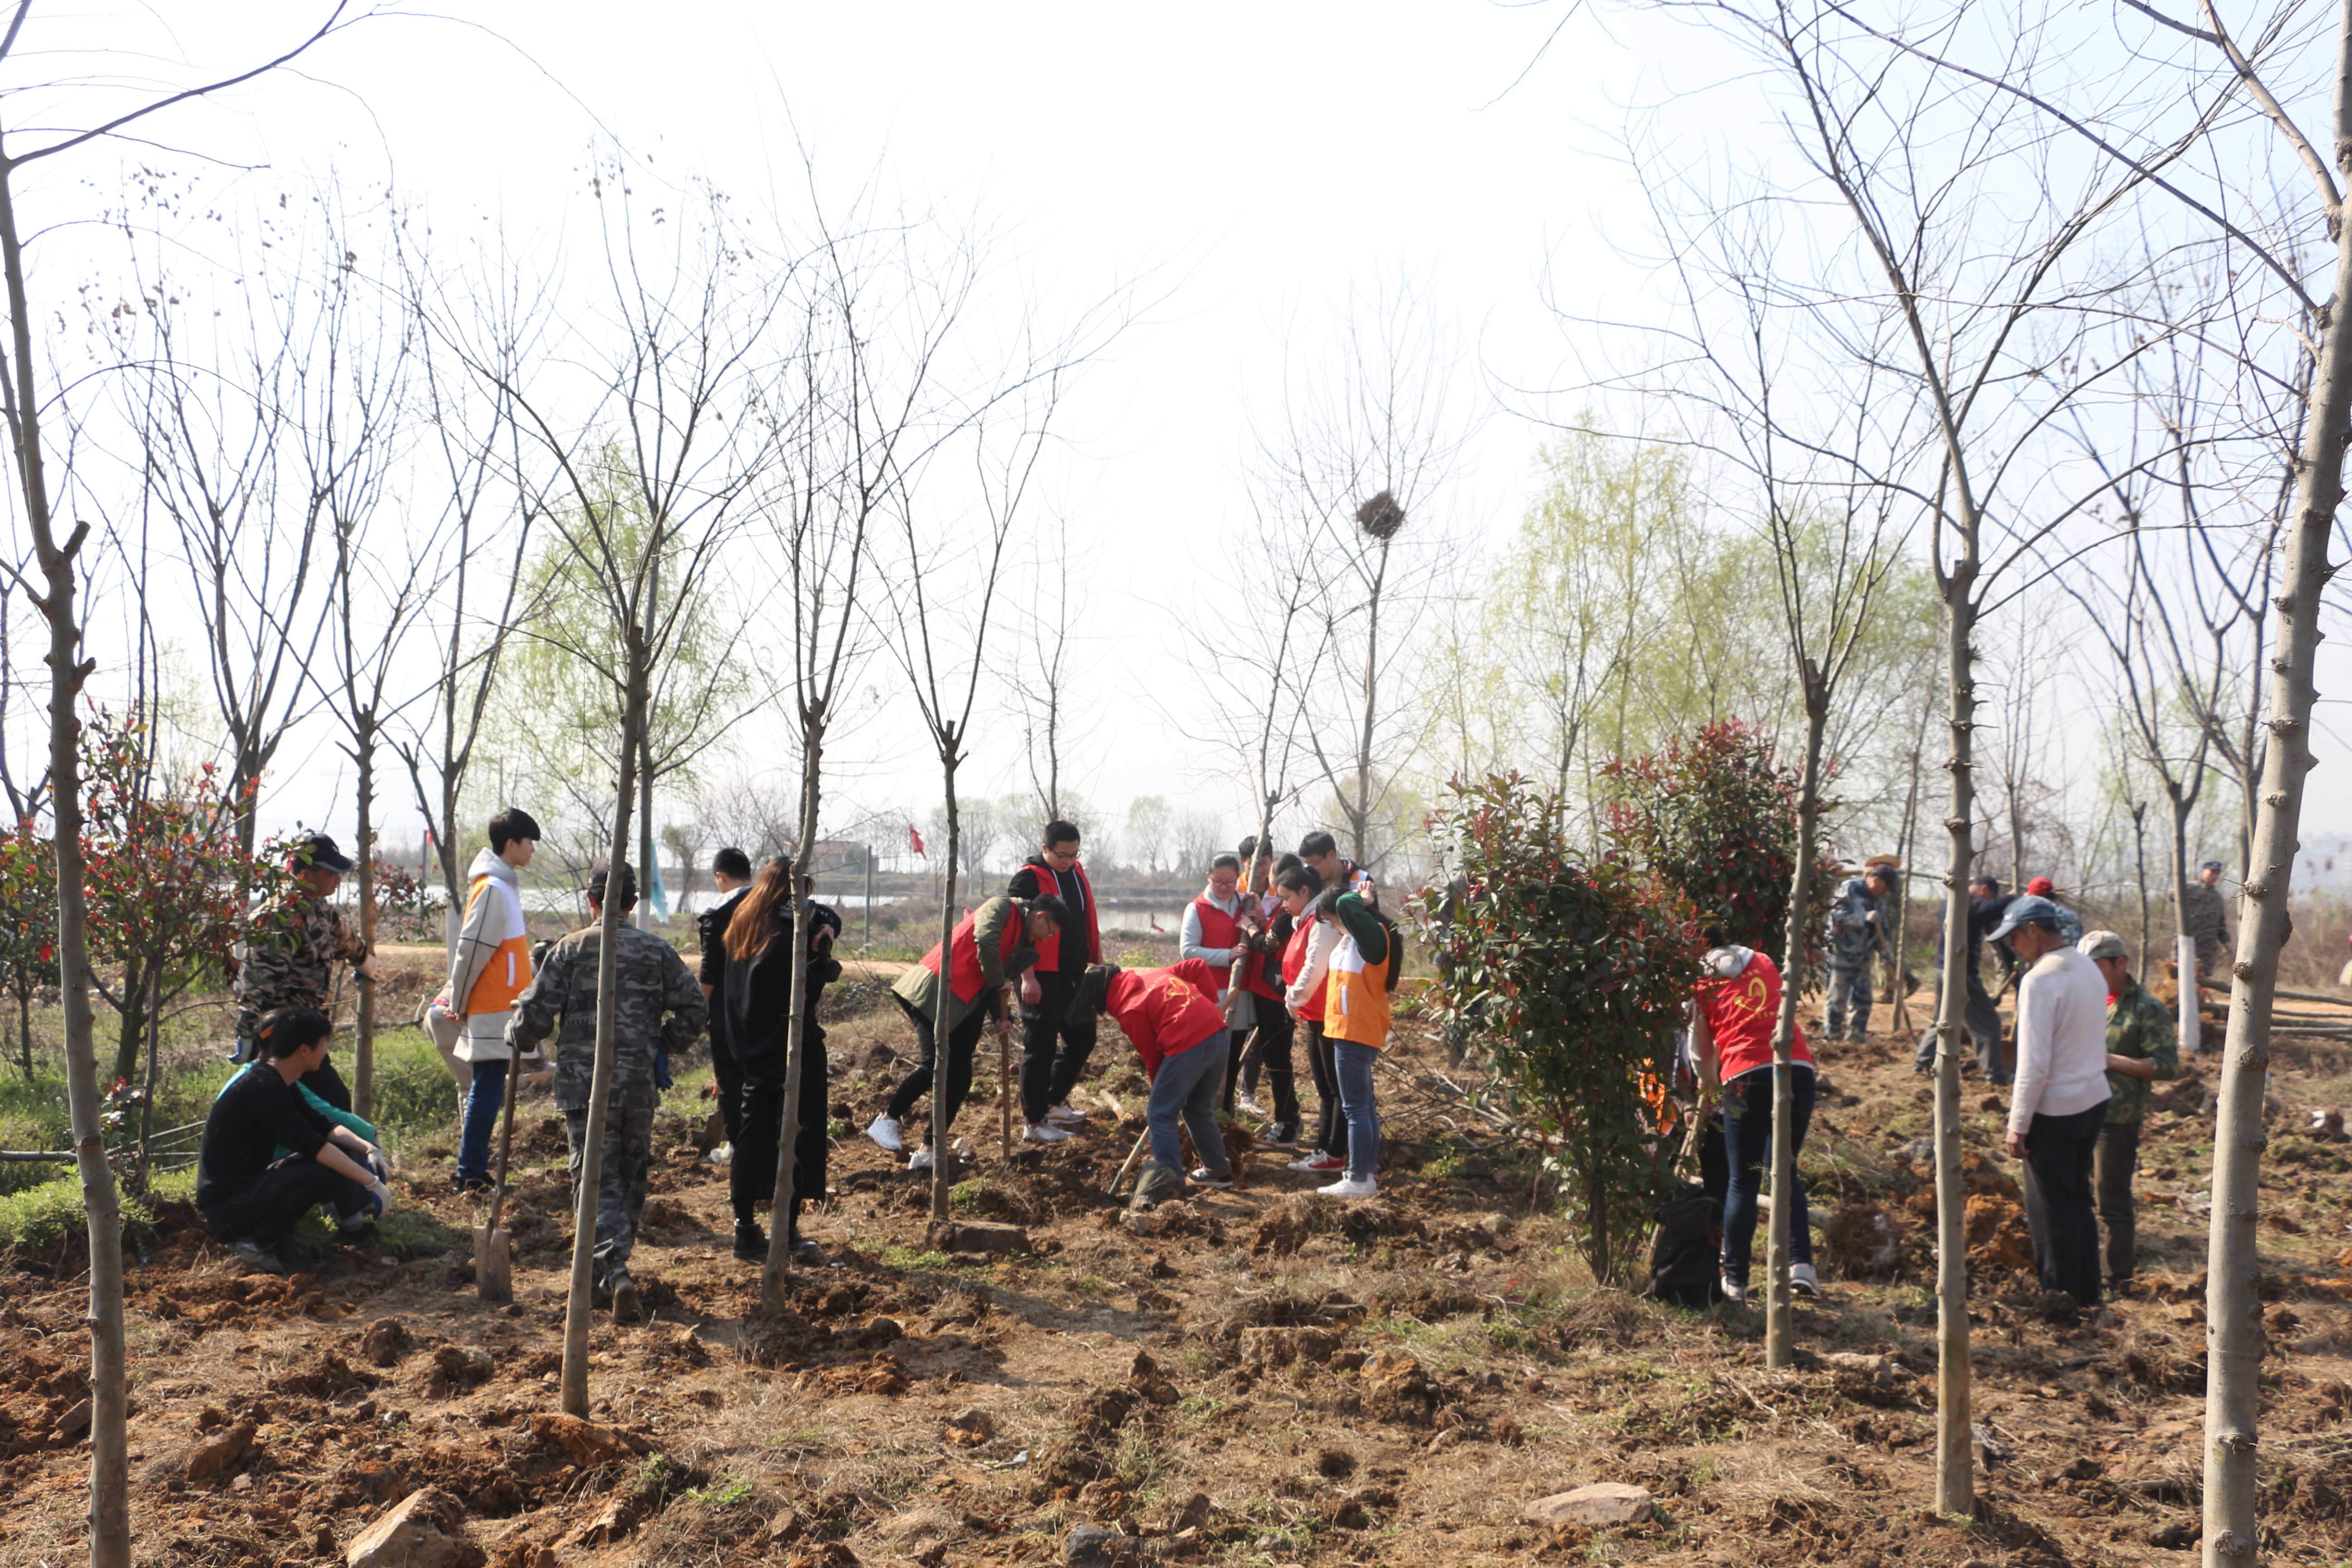
[[(863, 1126), (910, 1034), (868, 978), (837, 994), (835, 1117)], [(1884, 1025), (1820, 1046), (1806, 1166), (1828, 1222), (1804, 1363), (1762, 1366), (1762, 1309), (1595, 1291), (1529, 1171), (1465, 1126), (1435, 1039), (1399, 1025), (1381, 1197), (1329, 1204), (1279, 1154), (1136, 1234), (1105, 1199), (1141, 1107), (1115, 1037), (1096, 1131), (997, 1154), (993, 1053), (962, 1133), (960, 1215), (1030, 1251), (929, 1251), (927, 1197), (837, 1140), (807, 1232), (828, 1262), (753, 1316), (724, 1171), (670, 1117), (635, 1272), (654, 1321), (593, 1335), (590, 1420), (557, 1415), (569, 1262), (562, 1124), (517, 1128), (515, 1302), (470, 1281), (475, 1204), (447, 1143), (405, 1150), (407, 1244), (242, 1276), (167, 1213), (129, 1274), (134, 1533), (143, 1563), (341, 1561), (414, 1488), (496, 1568), (555, 1563), (1047, 1563), (1080, 1526), (1202, 1563), (2150, 1563), (2192, 1561), (2204, 1387), (2211, 1065), (2161, 1093), (2143, 1152), (2140, 1274), (2093, 1314), (2042, 1298), (1971, 1081), (1980, 1516), (1931, 1512), (1929, 1088)], [(2274, 1056), (2265, 1161), (2265, 1552), (2352, 1556), (2352, 1046)], [(1305, 1077), (1301, 1072), (1301, 1077)], [(1110, 1126), (1103, 1095), (1122, 1110)], [(0, 1272), (0, 1566), (80, 1554), (82, 1281)], [(1592, 1481), (1646, 1488), (1625, 1526), (1522, 1519)], [(463, 1521), (456, 1523), (456, 1516)], [(1068, 1561), (1110, 1561), (1075, 1554)]]

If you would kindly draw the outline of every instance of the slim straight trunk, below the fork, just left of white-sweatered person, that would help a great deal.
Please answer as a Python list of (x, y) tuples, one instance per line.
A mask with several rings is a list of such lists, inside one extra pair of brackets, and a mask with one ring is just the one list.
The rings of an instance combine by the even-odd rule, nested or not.
[(1936, 994), (1936, 1512), (1976, 1514), (1969, 1450), (1969, 1190), (1959, 1178), (1959, 1037), (1969, 1009), (1969, 872), (1976, 860), (1976, 527), (1964, 505), (1966, 552), (1945, 578), (1952, 682), (1952, 835), (1943, 884), (1943, 985)]

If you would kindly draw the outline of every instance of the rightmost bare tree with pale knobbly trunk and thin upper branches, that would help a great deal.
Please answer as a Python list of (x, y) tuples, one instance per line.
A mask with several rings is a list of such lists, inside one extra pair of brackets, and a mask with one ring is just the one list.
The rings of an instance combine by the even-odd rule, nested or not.
[[(1964, 85), (1969, 108), (2006, 115), (2025, 108), (2034, 129), (2065, 139), (2070, 150), (2096, 155), (2112, 179), (2161, 195), (2164, 212), (2227, 252), (2230, 263), (2263, 284), (2263, 306), (2241, 313), (2249, 334), (2216, 343), (2241, 367), (2270, 367), (2279, 381), (2310, 376), (2293, 454), (2281, 463), (2291, 501), (2281, 529), (2277, 628), (2263, 729), (2260, 804), (2246, 856), (2239, 950), (2232, 964), (2227, 1058), (2213, 1133), (2213, 1218), (2206, 1265), (2206, 1469), (2204, 1561), (2223, 1568), (2258, 1549), (2258, 1363), (2263, 1356), (2256, 1295), (2256, 1222), (2260, 1218), (2263, 1088), (2270, 1065), (2270, 1018), (2279, 980), (2279, 950), (2288, 933), (2286, 893), (2296, 865), (2305, 776), (2312, 769), (2312, 672), (2319, 649), (2321, 595), (2336, 567), (2328, 545), (2343, 503), (2343, 430), (2352, 416), (2352, 346), (2336, 331), (2352, 301), (2352, 223), (2343, 197), (2352, 179), (2352, 9), (2305, 9), (2286, 0), (2234, 33), (2213, 5), (2176, 19), (2154, 5), (2133, 5), (2119, 24), (2145, 28), (2126, 38), (2138, 59), (2164, 59), (2150, 82), (2131, 73), (2131, 99), (2112, 73), (2082, 66), (2063, 47), (2067, 14), (2027, 14), (2023, 38), (2006, 42), (1992, 66), (1962, 59), (1957, 38), (1903, 35), (1839, 9), (1856, 35), (1891, 54), (1924, 61), (1940, 85)], [(2288, 103), (2317, 96), (2314, 45), (2328, 40), (2336, 92), (2328, 134), (2312, 139)], [(2053, 47), (2056, 45), (2056, 47)], [(2274, 181), (2256, 195), (2232, 179), (2234, 158), (2220, 155), (2225, 110), (2251, 108), (2251, 125), (2270, 134), (2281, 162), (2293, 160), (2307, 195)], [(2230, 127), (2237, 120), (2227, 122)], [(2321, 153), (2333, 150), (2333, 160)], [(2197, 158), (2187, 158), (2197, 153)], [(2209, 155), (2211, 153), (2211, 155)], [(2089, 212), (2084, 214), (2089, 219)], [(2321, 280), (2319, 259), (2326, 259)], [(2260, 327), (2260, 334), (2253, 327)], [(2293, 371), (2279, 374), (2279, 364)], [(2307, 371), (2303, 369), (2307, 362)]]

